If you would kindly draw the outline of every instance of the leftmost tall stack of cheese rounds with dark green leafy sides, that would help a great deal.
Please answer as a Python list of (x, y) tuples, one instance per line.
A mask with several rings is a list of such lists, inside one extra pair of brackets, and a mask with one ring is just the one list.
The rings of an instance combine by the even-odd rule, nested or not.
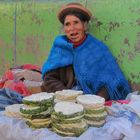
[(29, 127), (45, 128), (50, 127), (53, 106), (53, 95), (42, 92), (23, 98), (20, 112)]

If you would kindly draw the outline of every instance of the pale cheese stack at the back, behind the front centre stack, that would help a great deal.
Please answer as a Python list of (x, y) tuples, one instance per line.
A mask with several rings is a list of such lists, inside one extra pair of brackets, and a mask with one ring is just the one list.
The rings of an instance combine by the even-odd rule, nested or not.
[(62, 90), (55, 92), (55, 102), (70, 101), (76, 102), (76, 98), (82, 95), (83, 91), (80, 90)]

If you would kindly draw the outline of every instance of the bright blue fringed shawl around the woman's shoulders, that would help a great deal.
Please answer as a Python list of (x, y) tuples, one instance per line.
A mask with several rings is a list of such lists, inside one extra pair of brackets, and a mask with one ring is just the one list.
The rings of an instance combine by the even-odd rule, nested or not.
[(90, 34), (77, 48), (66, 36), (56, 37), (50, 55), (42, 68), (44, 74), (73, 64), (80, 87), (85, 94), (96, 94), (105, 87), (111, 100), (125, 99), (130, 88), (107, 46)]

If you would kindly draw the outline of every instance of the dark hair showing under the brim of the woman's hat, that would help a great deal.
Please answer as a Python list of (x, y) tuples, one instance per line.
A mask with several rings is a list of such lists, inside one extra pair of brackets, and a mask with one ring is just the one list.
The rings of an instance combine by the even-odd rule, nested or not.
[(87, 16), (86, 16), (86, 15), (84, 15), (84, 14), (81, 13), (80, 11), (77, 12), (77, 11), (71, 10), (71, 11), (66, 12), (66, 13), (63, 15), (63, 17), (62, 17), (62, 24), (64, 24), (64, 21), (65, 21), (65, 18), (66, 18), (67, 15), (74, 15), (74, 16), (76, 16), (77, 18), (79, 18), (82, 22), (88, 22), (88, 19), (87, 19)]

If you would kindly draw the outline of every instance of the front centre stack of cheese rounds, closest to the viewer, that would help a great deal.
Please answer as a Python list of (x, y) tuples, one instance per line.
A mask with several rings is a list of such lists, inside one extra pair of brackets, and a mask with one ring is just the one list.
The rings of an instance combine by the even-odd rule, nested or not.
[(51, 115), (52, 130), (62, 136), (79, 136), (88, 128), (83, 116), (82, 105), (68, 101), (58, 102)]

